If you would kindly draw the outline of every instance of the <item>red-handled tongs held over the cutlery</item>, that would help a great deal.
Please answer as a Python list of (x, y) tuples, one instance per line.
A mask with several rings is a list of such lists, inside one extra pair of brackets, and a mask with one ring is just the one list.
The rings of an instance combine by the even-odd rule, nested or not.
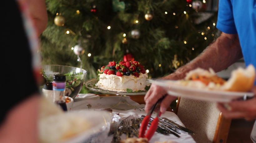
[(159, 117), (161, 116), (161, 112), (160, 109), (158, 109), (157, 115), (154, 118), (154, 120), (151, 122), (150, 127), (145, 135), (145, 132), (147, 130), (147, 126), (150, 120), (150, 116), (152, 115), (153, 111), (155, 110), (156, 107), (160, 107), (160, 103), (163, 100), (165, 96), (163, 96), (162, 98), (160, 98), (155, 105), (150, 109), (150, 112), (144, 117), (144, 119), (141, 122), (141, 126), (140, 126), (140, 131), (139, 131), (139, 137), (145, 137), (148, 140), (151, 139), (151, 137), (154, 135), (157, 126), (158, 126), (158, 122), (159, 122)]

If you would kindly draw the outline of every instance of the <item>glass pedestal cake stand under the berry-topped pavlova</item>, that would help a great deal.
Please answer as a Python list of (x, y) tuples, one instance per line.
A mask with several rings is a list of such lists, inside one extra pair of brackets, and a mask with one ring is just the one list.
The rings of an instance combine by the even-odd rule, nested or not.
[(106, 94), (115, 94), (115, 95), (121, 95), (121, 99), (119, 102), (117, 102), (114, 105), (111, 105), (112, 109), (117, 109), (117, 110), (129, 110), (129, 109), (134, 109), (136, 106), (131, 105), (130, 103), (127, 102), (125, 99), (126, 95), (145, 95), (147, 91), (138, 91), (138, 92), (116, 92), (116, 91), (110, 91), (106, 89), (101, 89), (97, 87), (95, 84), (98, 82), (97, 78), (89, 79), (85, 82), (85, 86), (96, 92), (101, 92), (101, 93), (106, 93)]

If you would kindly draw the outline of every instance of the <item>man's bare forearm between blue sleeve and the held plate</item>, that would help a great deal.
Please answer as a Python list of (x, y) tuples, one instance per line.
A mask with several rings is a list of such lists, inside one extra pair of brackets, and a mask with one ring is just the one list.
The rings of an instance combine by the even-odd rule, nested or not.
[(181, 79), (185, 73), (198, 67), (214, 69), (219, 72), (232, 65), (243, 57), (237, 34), (222, 33), (219, 38), (210, 44), (198, 57), (176, 70), (175, 73), (165, 76), (165, 79)]

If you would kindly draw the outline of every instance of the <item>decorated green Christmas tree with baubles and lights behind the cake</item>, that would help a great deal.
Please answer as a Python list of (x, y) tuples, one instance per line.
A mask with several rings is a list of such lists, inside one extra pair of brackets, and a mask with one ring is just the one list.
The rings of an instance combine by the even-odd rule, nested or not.
[(165, 76), (219, 36), (217, 1), (46, 0), (42, 64), (81, 67), (91, 79), (109, 61), (134, 59), (149, 78)]

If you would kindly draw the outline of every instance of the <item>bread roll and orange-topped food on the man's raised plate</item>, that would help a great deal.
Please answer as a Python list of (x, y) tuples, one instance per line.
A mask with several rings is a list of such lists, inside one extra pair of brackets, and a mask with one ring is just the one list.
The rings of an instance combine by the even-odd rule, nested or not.
[(209, 90), (247, 92), (253, 87), (254, 80), (255, 68), (253, 65), (248, 65), (245, 69), (241, 67), (234, 69), (227, 81), (219, 77), (211, 68), (209, 70), (197, 68), (188, 72), (184, 79), (170, 81), (170, 84)]

